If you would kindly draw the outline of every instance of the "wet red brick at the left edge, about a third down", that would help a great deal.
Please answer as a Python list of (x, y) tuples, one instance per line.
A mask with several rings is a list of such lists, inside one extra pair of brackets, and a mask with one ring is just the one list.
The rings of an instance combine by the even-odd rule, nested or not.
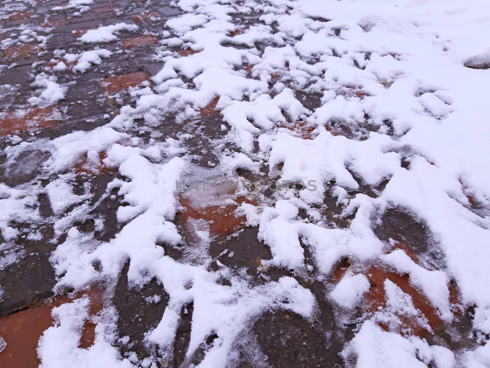
[(11, 112), (0, 121), (0, 136), (35, 128), (52, 128), (57, 123), (58, 121), (53, 117), (52, 106), (34, 108), (23, 117), (18, 117), (15, 112)]

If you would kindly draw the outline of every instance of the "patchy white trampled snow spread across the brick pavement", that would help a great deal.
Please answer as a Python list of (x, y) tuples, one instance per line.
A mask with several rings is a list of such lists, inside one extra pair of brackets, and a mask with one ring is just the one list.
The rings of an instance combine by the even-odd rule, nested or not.
[[(55, 291), (98, 285), (108, 296), (92, 317), (87, 296), (53, 309), (56, 323), (39, 340), (40, 367), (167, 367), (189, 303), (183, 367), (210, 336), (196, 367), (238, 367), (242, 339), (253, 337), (261, 315), (284, 310), (314, 323), (327, 313), (319, 297), (332, 305), (336, 328), (352, 332), (336, 352), (345, 367), (490, 367), (488, 2), (176, 5), (182, 14), (161, 21), (154, 56), (161, 70), (131, 87), (132, 100), (110, 122), (56, 138), (6, 138), (9, 162), (26, 151), (49, 153), (41, 174), (49, 184), (0, 184), (3, 247), (21, 236), (16, 222), (36, 223), (33, 203), (46, 194), (58, 242), (49, 258)], [(71, 62), (84, 73), (111, 57), (106, 42), (137, 28), (91, 29), (78, 40), (93, 51), (59, 53), (55, 68), (62, 73)], [(41, 90), (29, 99), (33, 106), (66, 94), (56, 77), (38, 75), (34, 83)], [(184, 129), (169, 133), (200, 121), (199, 134), (218, 127), (209, 145), (196, 149)], [(204, 164), (196, 163), (201, 156)], [(82, 158), (85, 173), (114, 172), (95, 203), (87, 188), (76, 190)], [(210, 178), (240, 185), (226, 191)], [(193, 189), (196, 181), (210, 191)], [(115, 190), (113, 237), (95, 236), (109, 226), (103, 216), (92, 216), (94, 230), (76, 225), (116, 198)], [(257, 240), (271, 254), (258, 261), (262, 278), (209, 254), (223, 236), (213, 226), (226, 220), (185, 217), (190, 207), (207, 213), (209, 206), (234, 206), (226, 216), (246, 217), (233, 231), (258, 227)], [(33, 229), (28, 236), (38, 235)], [(161, 244), (184, 256), (175, 259)], [(8, 256), (2, 264), (15, 262)], [(118, 350), (110, 295), (127, 262), (130, 286), (156, 279), (168, 294), (161, 320), (145, 335), (157, 353), (144, 359)], [(273, 278), (268, 269), (283, 274)], [(322, 295), (313, 283), (323, 285)], [(97, 323), (95, 341), (82, 348), (89, 318)], [(334, 339), (331, 329), (324, 333)], [(256, 367), (269, 365), (276, 367), (272, 359)]]

